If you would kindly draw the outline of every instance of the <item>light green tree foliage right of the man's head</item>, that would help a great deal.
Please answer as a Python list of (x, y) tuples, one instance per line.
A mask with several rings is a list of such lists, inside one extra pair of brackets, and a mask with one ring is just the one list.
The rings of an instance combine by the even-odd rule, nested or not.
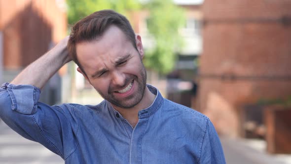
[(145, 66), (162, 74), (169, 73), (183, 44), (178, 30), (185, 24), (184, 12), (172, 0), (149, 0), (145, 8), (150, 13), (147, 29), (155, 40), (154, 48), (146, 50)]

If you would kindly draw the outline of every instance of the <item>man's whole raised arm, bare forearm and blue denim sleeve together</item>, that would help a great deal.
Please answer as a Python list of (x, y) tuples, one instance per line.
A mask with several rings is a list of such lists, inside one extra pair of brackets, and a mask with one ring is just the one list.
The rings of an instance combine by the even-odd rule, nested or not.
[[(49, 106), (38, 102), (44, 84), (68, 56), (66, 37), (53, 49), (25, 68), (11, 83), (0, 87), (0, 118), (23, 137), (39, 142), (63, 159), (76, 146), (77, 122), (69, 104)], [(65, 147), (64, 144), (71, 145)]]

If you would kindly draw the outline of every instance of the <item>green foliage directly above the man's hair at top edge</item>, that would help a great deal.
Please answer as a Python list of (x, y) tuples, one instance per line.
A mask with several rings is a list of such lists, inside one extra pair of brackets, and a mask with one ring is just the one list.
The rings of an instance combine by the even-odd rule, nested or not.
[(67, 0), (68, 22), (73, 24), (81, 18), (103, 9), (113, 9), (123, 15), (141, 7), (138, 0)]

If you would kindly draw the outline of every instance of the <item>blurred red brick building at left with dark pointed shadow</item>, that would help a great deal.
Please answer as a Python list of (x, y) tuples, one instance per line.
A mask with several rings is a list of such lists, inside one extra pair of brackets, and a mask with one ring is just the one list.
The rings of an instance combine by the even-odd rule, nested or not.
[(0, 31), (4, 69), (19, 70), (66, 36), (66, 13), (55, 0), (0, 0)]

